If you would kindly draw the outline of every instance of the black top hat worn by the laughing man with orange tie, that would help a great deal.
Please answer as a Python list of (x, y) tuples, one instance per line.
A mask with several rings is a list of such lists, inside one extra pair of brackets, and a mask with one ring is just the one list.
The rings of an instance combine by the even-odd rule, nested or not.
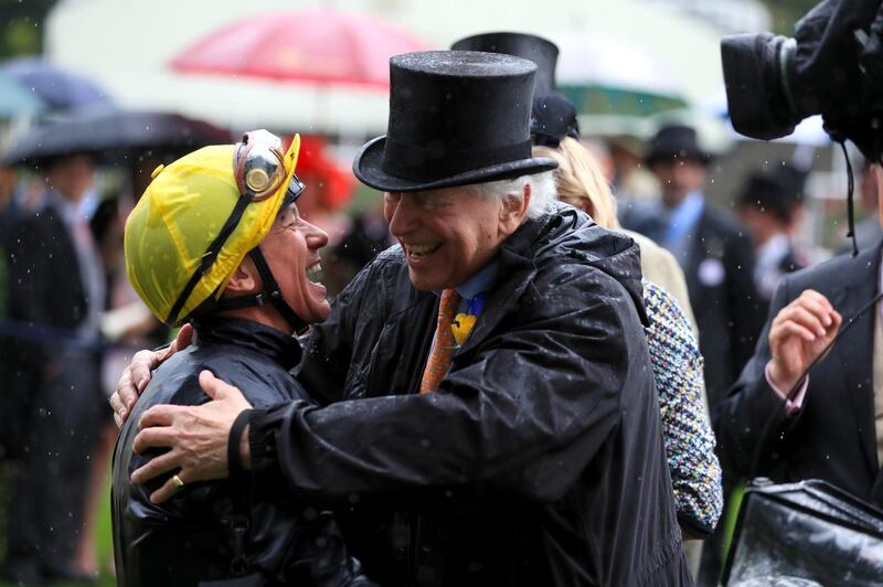
[(390, 122), (353, 160), (362, 183), (417, 192), (555, 169), (531, 157), (536, 65), (470, 51), (406, 53), (390, 60)]

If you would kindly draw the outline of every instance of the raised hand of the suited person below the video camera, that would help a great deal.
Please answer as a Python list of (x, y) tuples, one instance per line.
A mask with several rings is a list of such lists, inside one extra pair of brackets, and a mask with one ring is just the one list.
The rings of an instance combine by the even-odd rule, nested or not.
[(769, 329), (769, 377), (789, 391), (837, 335), (842, 318), (828, 298), (811, 289), (783, 308)]

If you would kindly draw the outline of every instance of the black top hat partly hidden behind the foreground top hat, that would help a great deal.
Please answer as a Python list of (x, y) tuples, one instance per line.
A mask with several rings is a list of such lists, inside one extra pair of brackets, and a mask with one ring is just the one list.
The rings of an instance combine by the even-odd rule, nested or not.
[(555, 92), (555, 66), (558, 47), (552, 41), (524, 33), (483, 33), (460, 39), (450, 49), (455, 51), (486, 51), (504, 53), (530, 60), (536, 64), (534, 96), (545, 96)]

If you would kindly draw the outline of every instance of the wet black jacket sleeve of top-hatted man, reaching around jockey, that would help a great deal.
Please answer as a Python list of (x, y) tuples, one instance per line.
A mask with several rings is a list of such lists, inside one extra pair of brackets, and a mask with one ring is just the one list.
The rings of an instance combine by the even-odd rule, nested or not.
[(257, 412), (253, 465), (323, 499), (467, 483), (560, 498), (617, 426), (620, 389), (648, 355), (621, 286), (595, 270), (553, 279), (529, 285), (533, 302), (438, 393)]

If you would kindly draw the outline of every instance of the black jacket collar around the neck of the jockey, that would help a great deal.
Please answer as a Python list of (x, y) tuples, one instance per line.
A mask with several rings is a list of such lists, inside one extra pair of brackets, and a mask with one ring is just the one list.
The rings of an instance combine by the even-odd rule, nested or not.
[(300, 342), (291, 334), (252, 320), (205, 317), (194, 322), (200, 346), (234, 345), (264, 354), (290, 371), (300, 362)]

